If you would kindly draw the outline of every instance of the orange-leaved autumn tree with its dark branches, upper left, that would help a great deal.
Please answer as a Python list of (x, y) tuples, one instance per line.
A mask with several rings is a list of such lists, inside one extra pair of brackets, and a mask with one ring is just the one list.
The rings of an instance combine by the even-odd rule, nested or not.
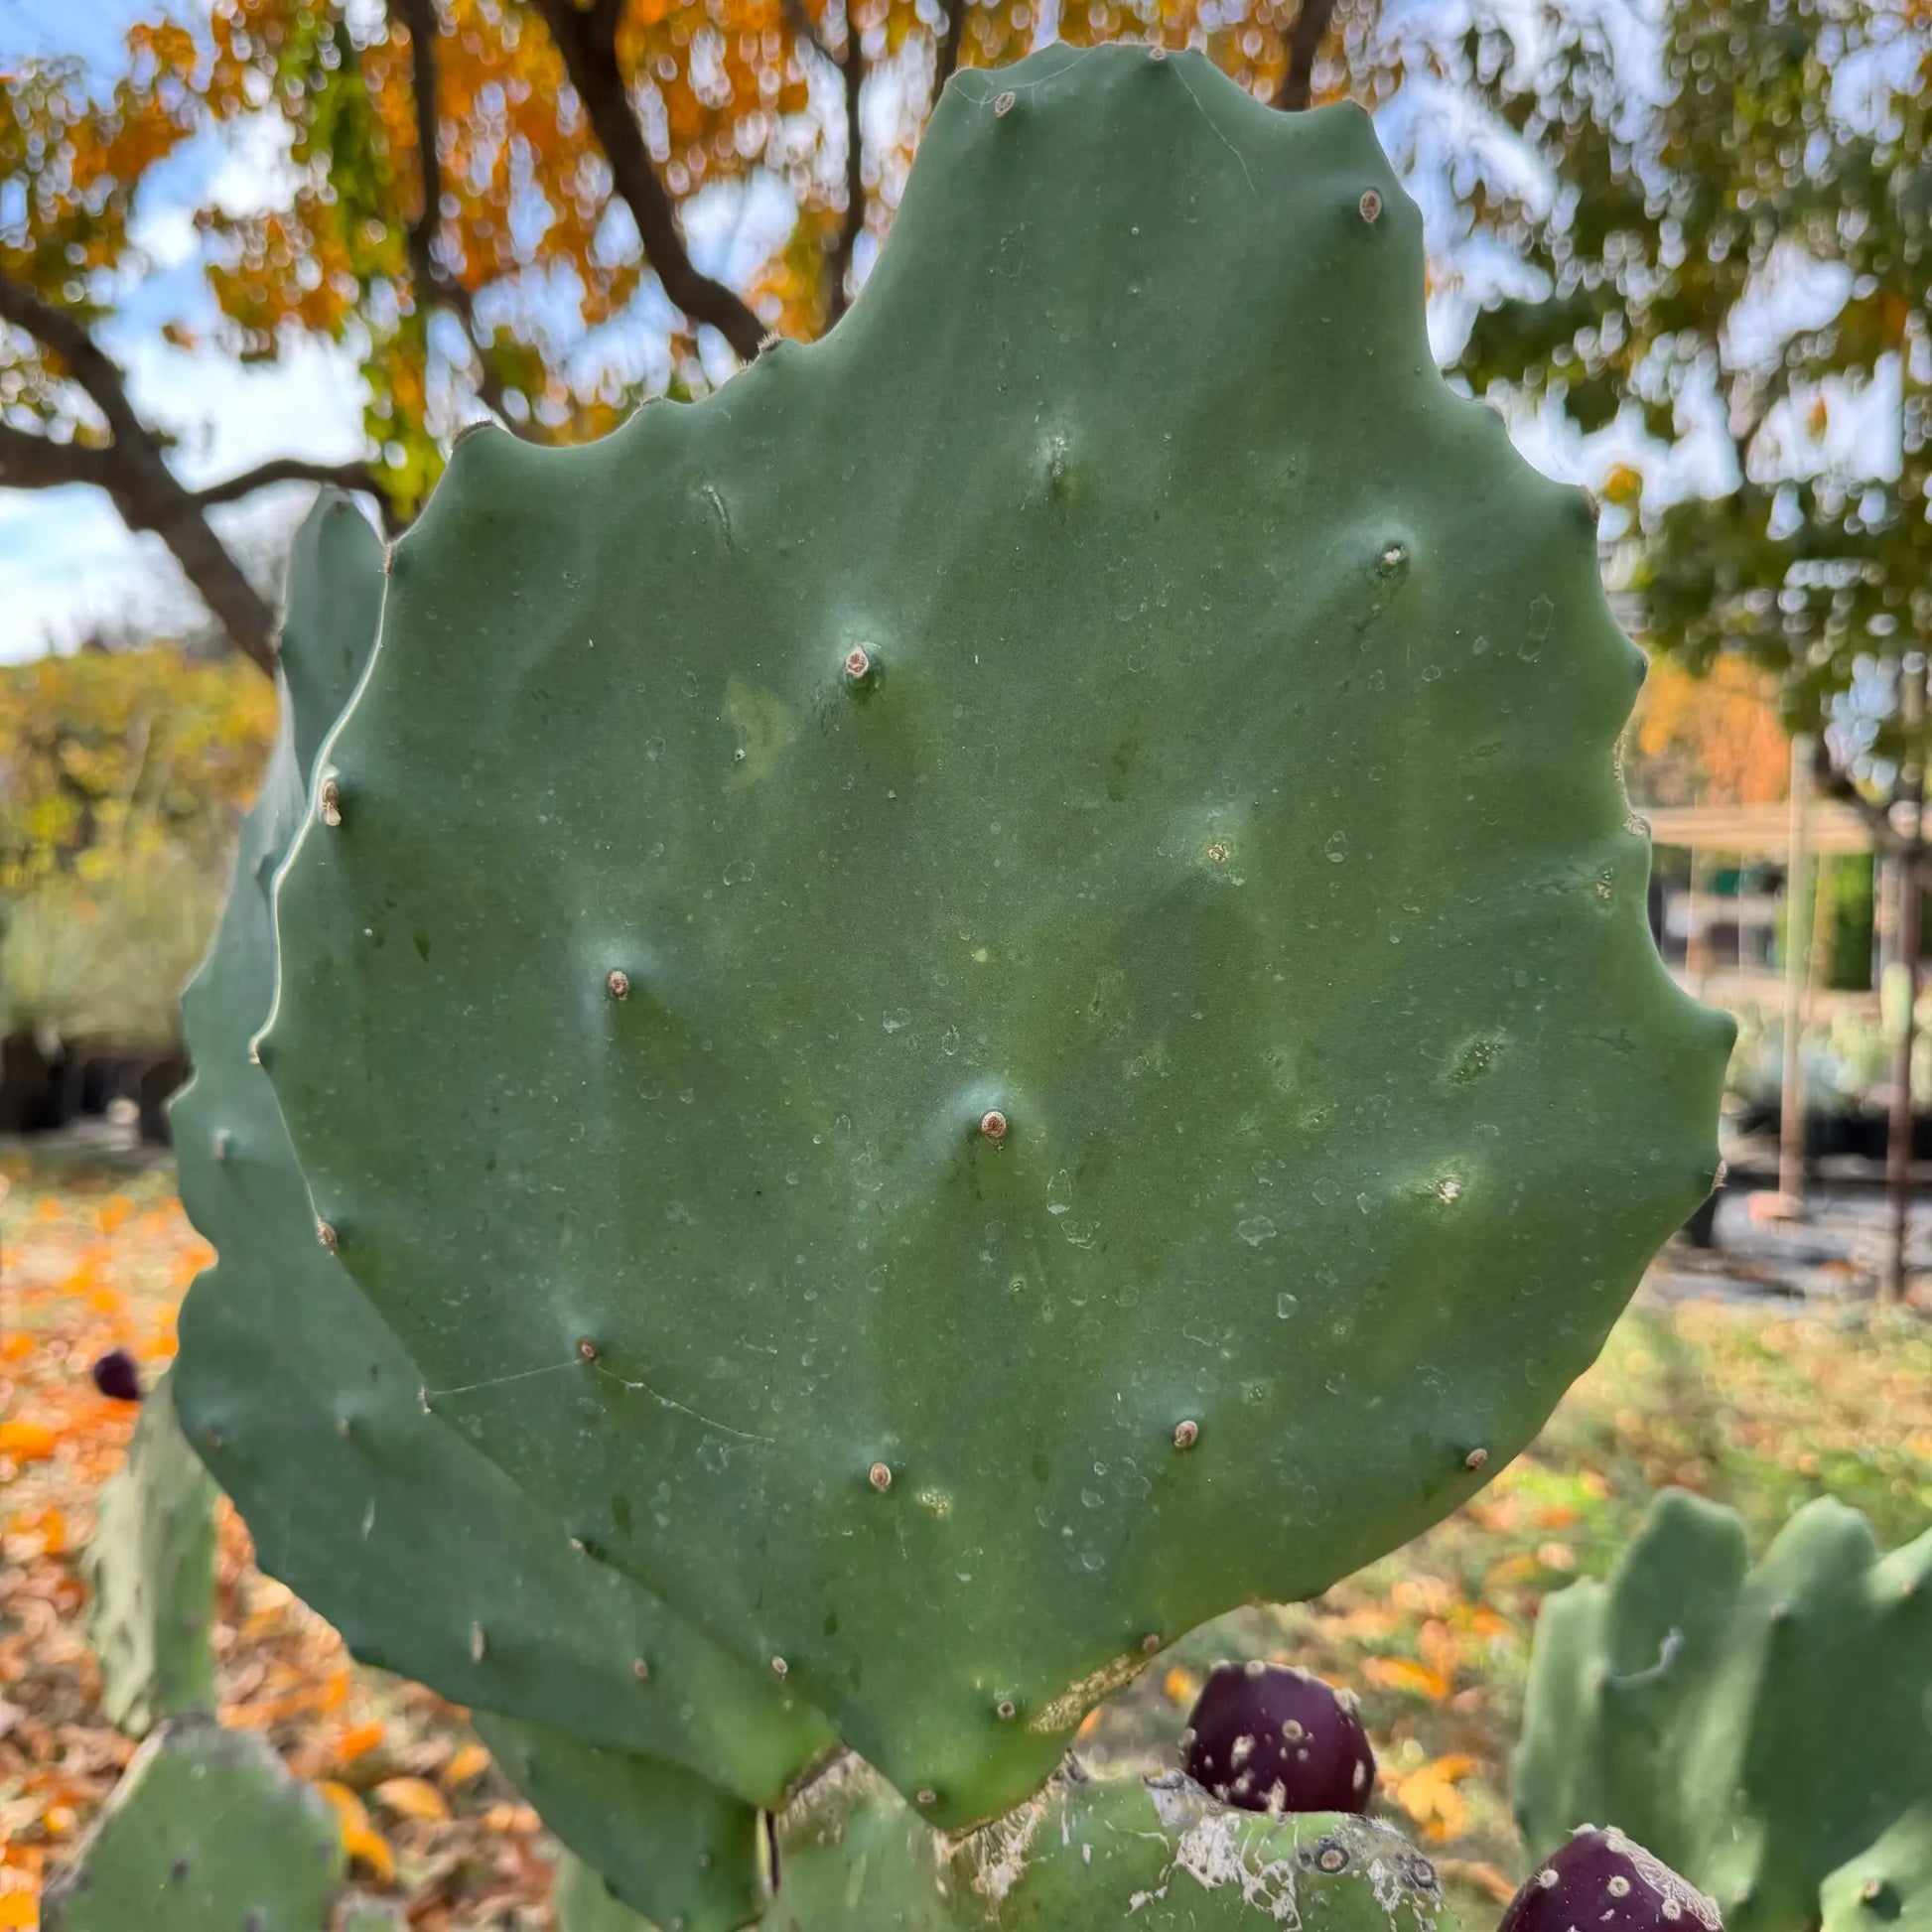
[[(1333, 87), (1337, 0), (1066, 0), (1061, 39), (1202, 44), (1244, 87)], [(487, 412), (597, 435), (645, 394), (692, 394), (850, 303), (929, 102), (956, 66), (1024, 54), (1039, 0), (214, 0), (147, 23), (100, 89), (77, 62), (0, 75), (0, 485), (87, 483), (155, 531), (265, 668), (272, 614), (207, 512), (328, 479), (408, 518), (448, 439)], [(195, 135), (261, 133), (288, 193), (199, 211), (222, 342), (348, 350), (369, 450), (270, 462), (207, 489), (170, 466), (100, 344), (143, 263), (133, 213)], [(769, 245), (703, 272), (699, 205)], [(781, 209), (771, 224), (769, 211)]]

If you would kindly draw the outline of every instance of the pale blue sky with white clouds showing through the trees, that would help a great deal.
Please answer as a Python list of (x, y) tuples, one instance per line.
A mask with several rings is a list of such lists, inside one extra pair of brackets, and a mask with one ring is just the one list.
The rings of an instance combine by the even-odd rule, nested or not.
[[(180, 17), (205, 14), (205, 0), (166, 0)], [(1383, 35), (1401, 35), (1410, 17), (1430, 10), (1439, 29), (1443, 12), (1461, 0), (1387, 0)], [(1590, 6), (1592, 0), (1578, 0)], [(110, 77), (122, 60), (122, 41), (137, 17), (153, 17), (156, 0), (0, 0), (0, 60), (17, 62), (73, 56)], [(1654, 0), (1607, 0), (1596, 8), (1627, 43), (1619, 54), (1627, 71), (1642, 75), (1654, 64), (1656, 35), (1646, 25)], [(1534, 33), (1534, 10), (1526, 14)], [(1051, 31), (1051, 17), (1041, 21)], [(1447, 180), (1453, 164), (1480, 155), (1484, 170), (1519, 172), (1520, 158), (1499, 147), (1449, 87), (1410, 68), (1410, 83), (1378, 114), (1378, 131), (1397, 156), (1410, 189), (1424, 205), (1432, 234), (1445, 236), (1449, 220)], [(1418, 77), (1420, 75), (1420, 77)], [(923, 87), (923, 83), (922, 83)], [(922, 95), (923, 99), (923, 95)], [(889, 137), (902, 112), (891, 79), (867, 89), (871, 139)], [(838, 124), (837, 102), (821, 112)], [(363, 450), (361, 383), (348, 355), (313, 342), (298, 342), (274, 363), (243, 369), (214, 348), (182, 350), (162, 340), (168, 321), (209, 328), (213, 298), (203, 280), (201, 243), (191, 214), (218, 203), (232, 213), (274, 205), (288, 193), (288, 172), (276, 139), (278, 122), (265, 120), (205, 135), (155, 168), (137, 205), (135, 240), (145, 272), (124, 292), (120, 309), (102, 338), (122, 361), (135, 402), (149, 421), (178, 437), (176, 468), (189, 483), (205, 483), (245, 469), (269, 456), (307, 456), (325, 462)], [(620, 211), (612, 216), (628, 228)], [(790, 199), (773, 180), (763, 193), (736, 191), (701, 197), (686, 211), (692, 253), (699, 267), (740, 286), (755, 274), (765, 253), (779, 245), (790, 222)], [(622, 240), (622, 238), (620, 238)], [(1468, 288), (1520, 288), (1522, 270), (1490, 247), (1463, 253), (1459, 269)], [(1799, 272), (1766, 301), (1770, 334), (1789, 327), (1793, 307), (1830, 313), (1841, 290), (1816, 286)], [(531, 288), (529, 303), (545, 292)], [(1472, 309), (1464, 290), (1439, 301), (1432, 330), (1441, 352), (1453, 350)], [(663, 379), (663, 336), (670, 311), (655, 284), (645, 284), (630, 315), (601, 330), (574, 354), (605, 363), (626, 379)], [(719, 373), (728, 367), (721, 355)], [(1880, 384), (1884, 390), (1884, 384)], [(1891, 392), (1895, 398), (1895, 390)], [(1864, 410), (1833, 415), (1833, 439), (1862, 440), (1895, 410), (1886, 394), (1866, 398)], [(1862, 417), (1862, 419), (1861, 419)], [(1673, 450), (1644, 444), (1617, 425), (1588, 446), (1546, 417), (1513, 425), (1519, 444), (1540, 468), (1573, 481), (1598, 481), (1617, 462), (1638, 462), (1665, 495), (1719, 493), (1731, 483), (1731, 454), (1718, 435), (1692, 435)], [(278, 537), (301, 514), (307, 489), (263, 493), (247, 504), (216, 512), (214, 520), (243, 553), (272, 553)], [(203, 622), (199, 603), (172, 558), (153, 537), (129, 535), (95, 491), (0, 491), (0, 659), (71, 647), (95, 628), (114, 634), (168, 632)]]

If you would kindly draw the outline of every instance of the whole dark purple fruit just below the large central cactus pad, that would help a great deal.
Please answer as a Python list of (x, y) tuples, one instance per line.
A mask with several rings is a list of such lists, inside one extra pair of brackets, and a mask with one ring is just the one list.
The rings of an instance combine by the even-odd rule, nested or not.
[(1240, 1810), (1366, 1812), (1376, 1752), (1354, 1698), (1279, 1663), (1217, 1663), (1188, 1714), (1180, 1764)]

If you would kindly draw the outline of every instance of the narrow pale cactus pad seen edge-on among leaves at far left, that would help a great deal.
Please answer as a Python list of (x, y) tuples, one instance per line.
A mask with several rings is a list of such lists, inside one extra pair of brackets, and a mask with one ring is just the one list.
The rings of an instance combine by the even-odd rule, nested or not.
[(100, 1704), (133, 1737), (214, 1708), (214, 1484), (182, 1439), (172, 1379), (155, 1383), (100, 1486), (83, 1557)]

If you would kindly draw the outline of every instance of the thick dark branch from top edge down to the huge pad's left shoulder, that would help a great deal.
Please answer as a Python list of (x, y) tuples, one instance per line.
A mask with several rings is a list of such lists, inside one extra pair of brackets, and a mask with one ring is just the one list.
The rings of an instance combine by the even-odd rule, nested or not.
[(678, 216), (670, 205), (651, 151), (643, 145), (643, 129), (630, 106), (630, 89), (616, 60), (616, 29), (624, 0), (531, 0), (551, 29), (564, 71), (583, 102), (591, 133), (611, 164), (611, 180), (618, 197), (630, 209), (643, 242), (643, 255), (665, 294), (694, 321), (709, 323), (738, 352), (742, 361), (757, 355), (765, 340), (765, 325), (757, 313), (723, 282), (692, 267), (692, 257), (678, 232)]

